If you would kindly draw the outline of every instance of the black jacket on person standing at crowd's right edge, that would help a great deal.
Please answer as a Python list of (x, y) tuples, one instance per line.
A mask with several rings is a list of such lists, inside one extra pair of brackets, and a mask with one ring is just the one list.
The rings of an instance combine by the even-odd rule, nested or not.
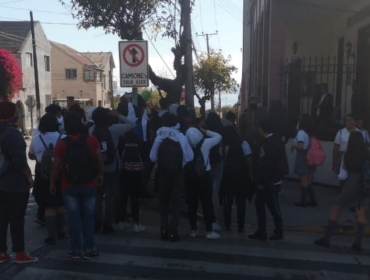
[(264, 140), (257, 170), (259, 185), (268, 187), (281, 180), (282, 174), (279, 171), (279, 165), (281, 164), (281, 149), (283, 147), (281, 140), (274, 135)]

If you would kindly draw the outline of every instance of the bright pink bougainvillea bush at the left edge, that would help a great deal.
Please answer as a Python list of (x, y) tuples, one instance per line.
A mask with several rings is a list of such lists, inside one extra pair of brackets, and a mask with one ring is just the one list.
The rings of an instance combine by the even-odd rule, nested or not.
[(17, 58), (8, 50), (0, 49), (0, 100), (12, 100), (19, 96), (22, 87), (22, 71)]

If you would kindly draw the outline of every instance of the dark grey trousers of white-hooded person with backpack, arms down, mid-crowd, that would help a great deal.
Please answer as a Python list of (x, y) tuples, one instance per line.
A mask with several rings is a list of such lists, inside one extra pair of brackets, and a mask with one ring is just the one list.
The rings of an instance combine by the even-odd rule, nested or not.
[[(161, 213), (161, 231), (168, 231), (171, 235), (178, 235), (179, 219), (181, 214), (183, 176), (171, 176), (159, 173), (159, 200)], [(170, 208), (172, 213), (170, 213)], [(171, 219), (168, 221), (169, 215)]]

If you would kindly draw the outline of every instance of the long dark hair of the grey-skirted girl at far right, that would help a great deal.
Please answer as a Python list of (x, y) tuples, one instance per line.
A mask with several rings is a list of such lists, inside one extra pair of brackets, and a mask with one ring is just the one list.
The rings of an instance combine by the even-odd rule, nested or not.
[(359, 131), (351, 133), (347, 152), (344, 155), (345, 168), (350, 172), (361, 172), (368, 159), (369, 151), (366, 147), (364, 136)]

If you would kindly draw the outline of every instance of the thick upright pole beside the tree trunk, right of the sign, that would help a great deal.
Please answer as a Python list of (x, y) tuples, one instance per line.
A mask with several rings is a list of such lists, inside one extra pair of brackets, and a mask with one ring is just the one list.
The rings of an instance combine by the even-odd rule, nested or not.
[(191, 35), (191, 1), (183, 0), (183, 6), (181, 7), (183, 13), (182, 18), (183, 26), (185, 28), (186, 36), (186, 54), (185, 54), (185, 65), (187, 67), (187, 78), (185, 82), (185, 104), (188, 108), (194, 110), (194, 85), (193, 85), (193, 40)]

